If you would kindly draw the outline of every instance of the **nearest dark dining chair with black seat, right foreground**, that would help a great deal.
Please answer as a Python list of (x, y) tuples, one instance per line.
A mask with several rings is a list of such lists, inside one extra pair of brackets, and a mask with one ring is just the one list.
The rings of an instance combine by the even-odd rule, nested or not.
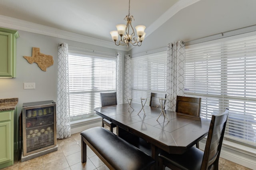
[(165, 166), (172, 170), (218, 170), (220, 150), (224, 137), (229, 109), (219, 115), (212, 115), (204, 151), (191, 147), (184, 154), (160, 153), (159, 169)]

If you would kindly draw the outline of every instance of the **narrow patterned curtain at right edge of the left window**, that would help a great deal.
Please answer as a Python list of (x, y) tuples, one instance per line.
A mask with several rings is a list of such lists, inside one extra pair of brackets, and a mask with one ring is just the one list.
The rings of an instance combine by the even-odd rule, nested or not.
[(122, 91), (122, 54), (117, 53), (117, 70), (116, 70), (116, 97), (117, 104), (123, 103), (123, 91)]

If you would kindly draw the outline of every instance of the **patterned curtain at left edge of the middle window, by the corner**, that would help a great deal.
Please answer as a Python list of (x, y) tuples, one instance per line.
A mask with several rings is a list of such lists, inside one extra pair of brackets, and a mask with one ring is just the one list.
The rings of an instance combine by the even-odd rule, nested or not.
[(127, 98), (132, 97), (131, 91), (131, 62), (130, 54), (125, 55), (124, 60), (124, 103), (128, 103)]

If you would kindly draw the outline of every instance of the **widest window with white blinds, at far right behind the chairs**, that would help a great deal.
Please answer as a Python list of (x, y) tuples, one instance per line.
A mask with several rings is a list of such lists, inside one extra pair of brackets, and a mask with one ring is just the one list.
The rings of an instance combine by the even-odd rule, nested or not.
[(185, 93), (202, 98), (201, 117), (229, 108), (226, 139), (255, 146), (256, 36), (237, 37), (186, 46)]

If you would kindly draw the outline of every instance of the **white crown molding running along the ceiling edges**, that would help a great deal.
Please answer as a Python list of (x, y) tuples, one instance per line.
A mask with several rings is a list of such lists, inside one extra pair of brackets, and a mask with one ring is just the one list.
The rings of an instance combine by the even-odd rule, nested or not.
[[(154, 32), (157, 28), (159, 28), (162, 24), (164, 24), (167, 20), (169, 20), (172, 16), (174, 16), (177, 12), (182, 10), (183, 8), (186, 8), (187, 6), (190, 6), (200, 0), (179, 0), (176, 2), (171, 8), (169, 8), (160, 18), (158, 18), (156, 21), (153, 22), (148, 28), (146, 28), (146, 37), (149, 36), (152, 32)], [(17, 18), (11, 18), (8, 16), (2, 16), (0, 15), (0, 26), (6, 27), (10, 29), (15, 30), (22, 30), (26, 32), (36, 33), (36, 34), (42, 34), (45, 36), (52, 36), (55, 38), (62, 38), (66, 40), (76, 41), (76, 42), (82, 42), (82, 43), (88, 43), (92, 45), (107, 47), (111, 49), (117, 49), (122, 51), (130, 51), (134, 46), (130, 46), (129, 48), (126, 47), (126, 45), (117, 46), (114, 44), (114, 42), (108, 42), (105, 40), (100, 40), (97, 38), (92, 38), (72, 32), (67, 32), (64, 30), (59, 30), (56, 28), (43, 26), (41, 24), (36, 24), (24, 20), (19, 20)]]

